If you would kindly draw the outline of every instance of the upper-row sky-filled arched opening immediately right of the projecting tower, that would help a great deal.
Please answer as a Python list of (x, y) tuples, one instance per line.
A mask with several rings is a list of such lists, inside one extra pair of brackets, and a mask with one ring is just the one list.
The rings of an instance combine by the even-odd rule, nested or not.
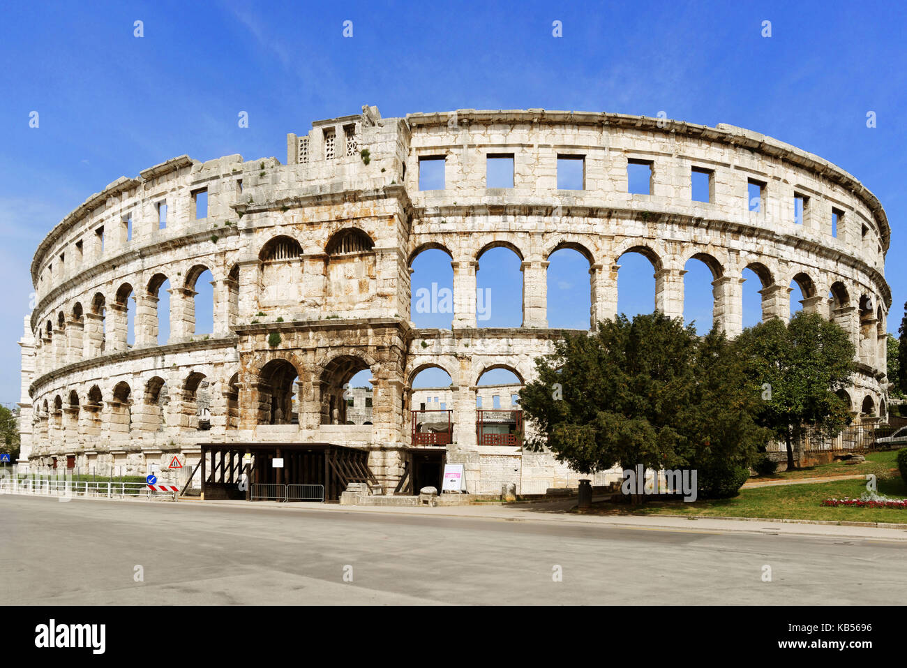
[(418, 328), (453, 326), (453, 258), (446, 250), (419, 251), (410, 263), (410, 316)]

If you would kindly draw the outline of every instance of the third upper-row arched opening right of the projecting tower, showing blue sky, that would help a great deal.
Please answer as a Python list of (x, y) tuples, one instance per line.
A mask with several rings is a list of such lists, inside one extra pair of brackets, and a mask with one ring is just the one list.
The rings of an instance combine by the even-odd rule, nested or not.
[(548, 256), (548, 262), (548, 326), (588, 329), (594, 324), (591, 322), (592, 283), (588, 251), (565, 244)]

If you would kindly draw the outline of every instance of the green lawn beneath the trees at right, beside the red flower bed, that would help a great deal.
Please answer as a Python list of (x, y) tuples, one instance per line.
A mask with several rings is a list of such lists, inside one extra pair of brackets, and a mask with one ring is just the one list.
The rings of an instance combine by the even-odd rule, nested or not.
[[(907, 498), (907, 485), (894, 466), (896, 452), (876, 452), (867, 456), (866, 462), (845, 467), (844, 473), (874, 473), (878, 491), (892, 498)], [(824, 470), (835, 470), (838, 464), (814, 467), (811, 476), (834, 475)], [(844, 475), (844, 474), (838, 474)], [(803, 477), (803, 476), (800, 476)], [(760, 479), (760, 478), (756, 478)], [(590, 511), (576, 511), (595, 515), (668, 514), (725, 517), (766, 517), (776, 519), (812, 519), (832, 522), (891, 522), (907, 524), (907, 510), (894, 508), (858, 508), (820, 506), (823, 499), (836, 496), (859, 498), (866, 491), (864, 480), (839, 480), (827, 483), (778, 485), (743, 489), (738, 496), (728, 499), (695, 501), (659, 501), (649, 496), (642, 506), (597, 503)]]

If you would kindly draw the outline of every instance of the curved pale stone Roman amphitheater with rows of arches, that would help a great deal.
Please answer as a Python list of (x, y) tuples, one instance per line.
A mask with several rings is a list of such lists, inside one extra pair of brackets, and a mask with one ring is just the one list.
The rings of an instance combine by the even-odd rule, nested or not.
[[(486, 181), (491, 161), (511, 171), (503, 187)], [(559, 189), (565, 165), (581, 179)], [(425, 187), (422, 172), (439, 168)], [(648, 188), (631, 192), (640, 169)], [(697, 179), (707, 196), (694, 199)], [(21, 463), (144, 475), (176, 456), (204, 463), (206, 496), (234, 495), (242, 470), (253, 483), (323, 484), (328, 498), (351, 482), (413, 494), (437, 486), (444, 464), (462, 464), (476, 493), (575, 485), (553, 457), (522, 452), (519, 385), (477, 407), (485, 372), (532, 379), (560, 335), (546, 270), (561, 249), (589, 262), (590, 327), (617, 313), (626, 253), (651, 262), (654, 306), (671, 316), (683, 315), (688, 260), (704, 262), (715, 322), (732, 336), (752, 270), (764, 319), (789, 318), (802, 297), (850, 332), (858, 371), (845, 399), (883, 415), (889, 241), (882, 205), (852, 175), (738, 127), (541, 109), (382, 118), (366, 106), (288, 134), (286, 163), (182, 155), (54, 227), (34, 254), (20, 341)], [(477, 321), (476, 272), (498, 247), (521, 261), (521, 327)], [(451, 329), (411, 319), (412, 265), (427, 250), (450, 256)], [(204, 271), (214, 319), (199, 332)], [(420, 397), (413, 380), (433, 367), (451, 386)], [(360, 410), (346, 386), (363, 369)]]

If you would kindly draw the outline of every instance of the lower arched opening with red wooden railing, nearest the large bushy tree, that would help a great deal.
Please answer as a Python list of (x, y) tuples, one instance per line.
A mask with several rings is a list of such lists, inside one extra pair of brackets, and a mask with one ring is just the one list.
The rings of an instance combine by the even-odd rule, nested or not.
[(476, 439), (479, 446), (521, 446), (522, 380), (503, 365), (486, 368), (476, 381)]

